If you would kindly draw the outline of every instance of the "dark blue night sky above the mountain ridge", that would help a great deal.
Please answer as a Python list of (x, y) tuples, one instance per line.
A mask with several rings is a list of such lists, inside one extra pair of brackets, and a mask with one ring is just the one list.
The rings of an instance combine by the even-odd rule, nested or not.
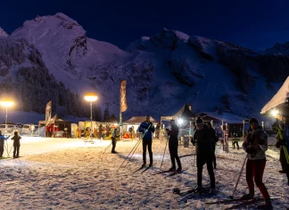
[(289, 1), (75, 1), (8, 0), (0, 5), (0, 27), (9, 34), (37, 15), (65, 13), (87, 36), (124, 48), (162, 28), (233, 42), (255, 50), (289, 41)]

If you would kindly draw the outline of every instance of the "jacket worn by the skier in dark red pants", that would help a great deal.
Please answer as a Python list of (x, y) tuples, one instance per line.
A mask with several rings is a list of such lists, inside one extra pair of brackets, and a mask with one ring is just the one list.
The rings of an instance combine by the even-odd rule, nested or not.
[(243, 143), (243, 149), (248, 153), (248, 159), (266, 159), (265, 152), (268, 150), (268, 136), (261, 126), (255, 130), (249, 130)]

